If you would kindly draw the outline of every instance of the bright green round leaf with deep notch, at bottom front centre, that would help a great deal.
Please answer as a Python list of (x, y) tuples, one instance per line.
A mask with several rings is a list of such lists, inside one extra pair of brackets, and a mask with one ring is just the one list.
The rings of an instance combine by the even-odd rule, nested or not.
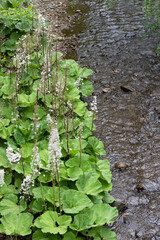
[(72, 221), (71, 216), (58, 217), (57, 212), (47, 211), (35, 220), (34, 225), (44, 233), (64, 234)]

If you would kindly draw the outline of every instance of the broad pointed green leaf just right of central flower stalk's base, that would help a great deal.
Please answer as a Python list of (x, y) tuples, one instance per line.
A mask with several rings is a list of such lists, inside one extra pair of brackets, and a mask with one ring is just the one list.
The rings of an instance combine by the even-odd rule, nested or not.
[(91, 207), (91, 200), (84, 194), (76, 190), (66, 190), (62, 194), (62, 204), (65, 213), (78, 213), (86, 207)]

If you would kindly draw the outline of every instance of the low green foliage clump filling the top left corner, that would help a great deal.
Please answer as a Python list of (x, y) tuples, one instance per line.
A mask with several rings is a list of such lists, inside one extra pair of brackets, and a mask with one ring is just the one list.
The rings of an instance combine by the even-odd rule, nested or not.
[(18, 40), (35, 27), (31, 6), (22, 8), (24, 0), (2, 0), (0, 3), (0, 64), (13, 56)]

